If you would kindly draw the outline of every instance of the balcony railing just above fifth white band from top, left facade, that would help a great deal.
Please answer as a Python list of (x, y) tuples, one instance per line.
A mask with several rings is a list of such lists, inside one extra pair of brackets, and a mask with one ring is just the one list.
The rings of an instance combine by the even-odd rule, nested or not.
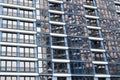
[(0, 56), (34, 58), (35, 53), (31, 53), (31, 52), (30, 53), (21, 53), (21, 52), (1, 51)]

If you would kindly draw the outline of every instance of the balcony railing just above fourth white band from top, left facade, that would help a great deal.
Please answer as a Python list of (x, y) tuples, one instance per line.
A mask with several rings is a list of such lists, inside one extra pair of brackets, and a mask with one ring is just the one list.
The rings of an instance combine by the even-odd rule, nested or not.
[(3, 42), (13, 42), (13, 43), (25, 43), (25, 44), (34, 44), (35, 40), (31, 39), (19, 39), (19, 38), (6, 38), (2, 37)]

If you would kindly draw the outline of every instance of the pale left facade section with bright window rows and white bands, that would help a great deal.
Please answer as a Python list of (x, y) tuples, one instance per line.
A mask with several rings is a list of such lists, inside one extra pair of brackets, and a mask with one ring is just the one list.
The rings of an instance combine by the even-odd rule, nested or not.
[(0, 0), (0, 80), (37, 80), (35, 0)]

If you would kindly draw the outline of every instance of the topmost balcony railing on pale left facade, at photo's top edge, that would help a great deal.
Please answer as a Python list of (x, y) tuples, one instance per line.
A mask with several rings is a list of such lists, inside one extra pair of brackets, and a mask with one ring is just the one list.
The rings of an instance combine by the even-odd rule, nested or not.
[(17, 2), (17, 1), (11, 1), (11, 0), (3, 0), (3, 3), (34, 7), (34, 4), (32, 2)]

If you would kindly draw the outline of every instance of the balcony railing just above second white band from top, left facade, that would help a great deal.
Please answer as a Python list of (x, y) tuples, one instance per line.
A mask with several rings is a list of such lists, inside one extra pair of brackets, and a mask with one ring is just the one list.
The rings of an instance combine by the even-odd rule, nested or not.
[(3, 11), (2, 15), (34, 19), (34, 15), (33, 14), (22, 14), (22, 13), (17, 13), (17, 12), (6, 12), (6, 11)]

